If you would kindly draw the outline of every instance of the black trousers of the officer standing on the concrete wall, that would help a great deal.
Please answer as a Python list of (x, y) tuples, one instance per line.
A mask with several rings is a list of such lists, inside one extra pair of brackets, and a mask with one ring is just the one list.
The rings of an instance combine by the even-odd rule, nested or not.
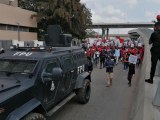
[(160, 60), (160, 53), (151, 51), (151, 71), (150, 71), (150, 79), (151, 80), (153, 80), (153, 78), (154, 78), (158, 60)]

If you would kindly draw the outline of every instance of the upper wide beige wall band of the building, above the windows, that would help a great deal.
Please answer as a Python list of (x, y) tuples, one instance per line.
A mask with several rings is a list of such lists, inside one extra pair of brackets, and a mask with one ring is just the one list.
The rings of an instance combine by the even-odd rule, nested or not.
[(20, 25), (26, 27), (37, 27), (36, 12), (21, 9), (19, 7), (0, 4), (0, 23), (9, 25)]

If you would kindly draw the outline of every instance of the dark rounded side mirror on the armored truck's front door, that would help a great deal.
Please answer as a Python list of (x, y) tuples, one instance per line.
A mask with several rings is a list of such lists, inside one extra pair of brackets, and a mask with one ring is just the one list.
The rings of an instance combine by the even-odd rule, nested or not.
[(56, 67), (56, 68), (53, 68), (52, 70), (52, 75), (53, 75), (53, 79), (61, 79), (62, 78), (62, 74), (63, 73), (63, 70), (59, 67)]

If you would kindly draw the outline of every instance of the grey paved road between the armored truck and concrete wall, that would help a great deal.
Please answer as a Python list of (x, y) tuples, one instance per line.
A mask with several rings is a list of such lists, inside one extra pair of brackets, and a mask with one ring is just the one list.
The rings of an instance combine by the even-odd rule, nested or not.
[(122, 68), (122, 64), (114, 68), (113, 85), (109, 88), (106, 87), (105, 69), (95, 68), (89, 103), (80, 105), (74, 98), (48, 120), (130, 120), (137, 76), (134, 76), (132, 86), (128, 87), (128, 71)]

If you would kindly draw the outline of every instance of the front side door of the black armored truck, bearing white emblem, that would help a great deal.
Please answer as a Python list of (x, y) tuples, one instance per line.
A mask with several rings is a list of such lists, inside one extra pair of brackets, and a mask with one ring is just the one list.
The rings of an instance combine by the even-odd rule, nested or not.
[[(60, 67), (59, 60), (58, 59), (50, 59), (46, 60), (45, 66), (42, 72), (42, 79), (48, 79), (44, 80), (44, 92), (45, 92), (45, 102), (47, 106), (51, 106), (55, 103), (55, 97), (57, 94), (57, 90), (59, 88), (59, 84), (61, 80), (54, 79), (54, 76), (52, 76), (53, 68)], [(43, 76), (45, 74), (45, 76)]]

